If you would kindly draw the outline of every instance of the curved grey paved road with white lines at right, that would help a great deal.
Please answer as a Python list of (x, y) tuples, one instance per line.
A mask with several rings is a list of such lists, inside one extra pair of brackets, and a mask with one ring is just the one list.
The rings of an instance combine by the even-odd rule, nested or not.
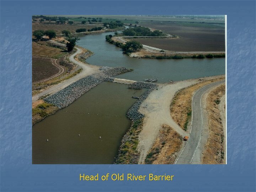
[(201, 89), (197, 90), (192, 97), (192, 122), (190, 137), (185, 144), (185, 147), (181, 151), (181, 154), (178, 156), (175, 164), (201, 164), (201, 141), (203, 135), (203, 108), (201, 107), (201, 98), (204, 92), (208, 89), (224, 83), (225, 80), (217, 81), (206, 86), (203, 86)]

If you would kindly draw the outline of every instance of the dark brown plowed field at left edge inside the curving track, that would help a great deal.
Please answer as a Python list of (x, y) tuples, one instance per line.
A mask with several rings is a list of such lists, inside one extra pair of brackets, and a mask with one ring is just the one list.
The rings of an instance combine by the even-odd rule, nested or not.
[(32, 83), (46, 79), (59, 72), (50, 58), (32, 57)]

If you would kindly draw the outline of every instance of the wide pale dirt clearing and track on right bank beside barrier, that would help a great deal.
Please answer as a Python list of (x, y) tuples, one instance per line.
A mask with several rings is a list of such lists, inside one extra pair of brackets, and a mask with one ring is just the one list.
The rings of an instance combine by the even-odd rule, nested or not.
[[(172, 127), (183, 137), (185, 131), (181, 129), (171, 118), (170, 105), (176, 91), (199, 82), (199, 80), (179, 81), (174, 84), (164, 84), (159, 90), (152, 91), (143, 101), (139, 111), (145, 114), (143, 130), (139, 134), (138, 150), (140, 151), (139, 164), (143, 164), (146, 155), (151, 148), (162, 124)], [(148, 105), (147, 108), (143, 106)]]

